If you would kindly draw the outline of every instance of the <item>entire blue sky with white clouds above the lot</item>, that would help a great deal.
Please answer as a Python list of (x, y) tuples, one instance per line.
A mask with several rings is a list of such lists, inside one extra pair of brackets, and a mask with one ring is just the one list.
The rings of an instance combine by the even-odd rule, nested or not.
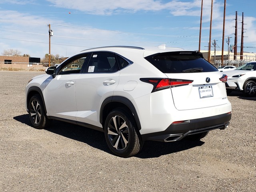
[[(224, 0), (213, 1), (212, 38), (222, 48)], [(244, 52), (256, 52), (256, 1), (226, 0), (225, 38), (238, 46), (244, 12)], [(69, 57), (81, 50), (112, 45), (166, 44), (198, 50), (201, 0), (1, 0), (0, 54), (17, 49), (43, 58), (49, 50), (48, 24), (54, 32), (51, 54)], [(209, 41), (211, 0), (203, 0), (201, 50)], [(212, 48), (213, 49), (213, 48)], [(226, 39), (224, 50), (228, 50)], [(240, 48), (238, 48), (240, 52)]]

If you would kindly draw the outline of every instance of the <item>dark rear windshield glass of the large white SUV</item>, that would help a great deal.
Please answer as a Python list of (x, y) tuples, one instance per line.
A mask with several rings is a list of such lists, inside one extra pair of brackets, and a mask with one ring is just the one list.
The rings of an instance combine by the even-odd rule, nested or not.
[(145, 58), (163, 73), (195, 73), (218, 71), (198, 52), (165, 52)]

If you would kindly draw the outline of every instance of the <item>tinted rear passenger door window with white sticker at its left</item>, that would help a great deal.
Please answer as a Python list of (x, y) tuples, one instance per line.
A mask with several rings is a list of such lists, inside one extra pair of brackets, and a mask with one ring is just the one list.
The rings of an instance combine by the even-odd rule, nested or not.
[(110, 73), (118, 70), (115, 54), (112, 52), (94, 52), (90, 58), (86, 72)]

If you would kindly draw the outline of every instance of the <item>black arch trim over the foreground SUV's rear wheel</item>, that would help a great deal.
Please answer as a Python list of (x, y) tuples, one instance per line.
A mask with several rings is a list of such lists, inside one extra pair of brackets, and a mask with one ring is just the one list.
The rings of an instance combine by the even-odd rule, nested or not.
[(141, 129), (140, 120), (134, 105), (128, 98), (122, 96), (111, 96), (102, 102), (100, 108), (100, 123), (102, 124), (103, 128), (108, 113), (114, 108), (124, 108), (128, 110), (128, 112), (130, 112), (130, 114), (134, 117), (134, 120), (138, 126), (138, 130)]

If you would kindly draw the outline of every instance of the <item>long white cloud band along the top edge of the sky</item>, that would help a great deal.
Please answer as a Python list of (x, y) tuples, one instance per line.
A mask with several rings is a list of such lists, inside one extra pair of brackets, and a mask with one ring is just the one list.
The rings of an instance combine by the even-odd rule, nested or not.
[(171, 14), (180, 15), (196, 15), (198, 11), (191, 10), (201, 6), (198, 0), (193, 2), (182, 1), (158, 1), (158, 0), (73, 0), (72, 4), (62, 0), (48, 0), (54, 6), (59, 8), (67, 8), (80, 10), (88, 14), (110, 15), (127, 12), (139, 11), (160, 11), (169, 10)]

